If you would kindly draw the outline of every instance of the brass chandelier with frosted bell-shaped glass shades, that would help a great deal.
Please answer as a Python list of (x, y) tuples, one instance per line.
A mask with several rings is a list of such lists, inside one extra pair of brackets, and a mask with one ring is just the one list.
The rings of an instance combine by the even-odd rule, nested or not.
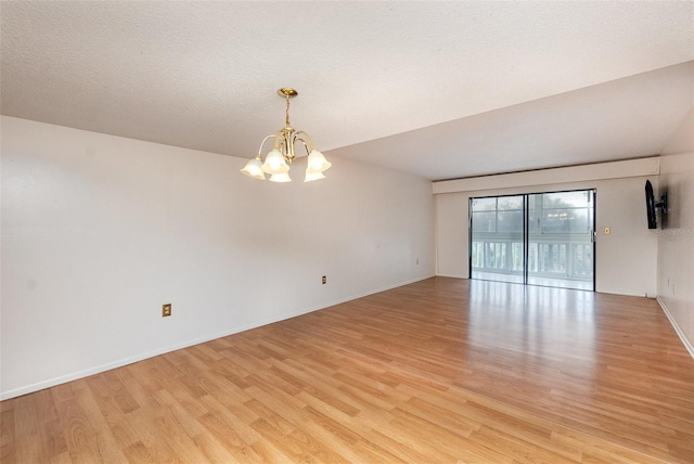
[[(286, 117), (285, 126), (277, 133), (266, 137), (260, 144), (260, 150), (255, 158), (246, 163), (241, 172), (248, 177), (258, 180), (266, 180), (265, 175), (270, 175), (271, 182), (291, 182), (290, 178), (290, 165), (296, 158), (294, 154), (294, 145), (300, 142), (308, 155), (308, 162), (306, 164), (306, 177), (304, 182), (310, 182), (312, 180), (325, 179), (323, 172), (330, 168), (331, 164), (325, 159), (325, 156), (313, 147), (313, 142), (308, 133), (303, 130), (296, 131), (290, 124), (290, 99), (298, 95), (298, 92), (294, 89), (282, 88), (278, 90), (280, 96), (284, 96), (286, 100)], [(274, 146), (262, 160), (262, 147), (269, 139), (274, 139)]]

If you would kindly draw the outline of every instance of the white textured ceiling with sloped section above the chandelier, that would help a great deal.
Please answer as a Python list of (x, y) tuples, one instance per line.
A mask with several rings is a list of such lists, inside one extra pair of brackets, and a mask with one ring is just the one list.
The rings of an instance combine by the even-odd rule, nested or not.
[(283, 126), (280, 87), (299, 91), (293, 126), (329, 156), (434, 180), (656, 154), (694, 104), (694, 1), (0, 14), (2, 114), (240, 157)]

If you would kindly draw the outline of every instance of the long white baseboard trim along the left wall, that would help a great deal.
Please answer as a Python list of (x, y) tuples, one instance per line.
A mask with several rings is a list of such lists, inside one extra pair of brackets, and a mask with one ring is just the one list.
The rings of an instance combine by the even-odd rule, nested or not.
[(343, 302), (347, 302), (347, 301), (351, 301), (355, 299), (359, 299), (359, 298), (363, 298), (365, 296), (369, 295), (373, 295), (376, 293), (381, 293), (381, 292), (385, 292), (385, 291), (389, 291), (393, 288), (397, 288), (397, 287), (401, 287), (403, 285), (409, 285), (409, 284), (413, 284), (415, 282), (420, 282), (426, 279), (430, 279), (435, 276), (434, 274), (430, 275), (424, 275), (421, 278), (416, 278), (416, 279), (412, 279), (406, 282), (400, 282), (400, 283), (396, 283), (393, 285), (387, 285), (385, 287), (381, 287), (381, 288), (376, 288), (373, 291), (368, 291), (368, 292), (362, 292), (356, 295), (351, 295), (351, 296), (347, 296), (345, 298), (339, 298), (337, 300), (334, 301), (329, 301), (325, 305), (320, 305), (320, 306), (316, 306), (312, 308), (307, 308), (307, 309), (303, 309), (300, 311), (296, 311), (293, 313), (288, 313), (288, 314), (281, 314), (277, 318), (272, 318), (272, 319), (268, 319), (268, 320), (264, 320), (264, 321), (259, 321), (258, 323), (254, 323), (254, 324), (248, 324), (245, 326), (241, 326), (241, 327), (235, 327), (232, 331), (224, 331), (224, 332), (218, 332), (215, 334), (210, 334), (207, 336), (203, 336), (203, 337), (198, 337), (198, 338), (193, 338), (190, 340), (185, 340), (185, 341), (181, 341), (179, 344), (175, 344), (168, 347), (163, 347), (153, 351), (149, 351), (145, 353), (141, 353), (141, 355), (137, 355), (137, 356), (132, 356), (132, 357), (128, 357), (128, 358), (124, 358), (117, 361), (113, 361), (113, 362), (108, 362), (106, 364), (102, 364), (102, 365), (98, 365), (94, 368), (90, 368), (90, 369), (86, 369), (83, 371), (78, 371), (78, 372), (74, 372), (70, 374), (66, 374), (66, 375), (61, 375), (54, 378), (49, 378), (47, 381), (42, 381), (42, 382), (38, 382), (36, 384), (31, 384), (31, 385), (27, 385), (24, 387), (20, 387), (20, 388), (15, 388), (13, 390), (9, 390), (9, 391), (3, 391), (0, 392), (0, 401), (3, 400), (9, 400), (11, 398), (16, 398), (16, 397), (21, 397), (22, 395), (28, 395), (28, 394), (33, 394), (35, 391), (39, 391), (46, 388), (50, 388), (50, 387), (54, 387), (56, 385), (61, 385), (61, 384), (65, 384), (67, 382), (73, 382), (73, 381), (77, 381), (79, 378), (85, 378), (85, 377), (89, 377), (90, 375), (94, 375), (94, 374), (101, 374), (102, 372), (106, 372), (106, 371), (111, 371), (112, 369), (117, 369), (117, 368), (123, 368), (124, 365), (128, 365), (128, 364), (132, 364), (134, 362), (139, 362), (139, 361), (143, 361), (145, 359), (150, 359), (150, 358), (154, 358), (160, 355), (166, 355), (167, 352), (171, 352), (171, 351), (176, 351), (182, 348), (188, 348), (188, 347), (192, 347), (194, 345), (200, 345), (200, 344), (204, 344), (206, 341), (210, 341), (217, 338), (222, 338), (222, 337), (228, 337), (229, 335), (234, 335), (234, 334), (239, 334), (241, 332), (245, 332), (245, 331), (249, 331), (252, 328), (257, 328), (260, 327), (262, 325), (268, 325), (268, 324), (272, 324), (274, 322), (280, 322), (280, 321), (284, 321), (286, 319), (292, 319), (292, 318), (296, 318), (298, 315), (304, 315), (304, 314), (308, 314), (309, 312), (313, 312), (313, 311), (318, 311), (321, 309), (325, 309), (325, 308), (330, 308), (331, 306), (335, 306), (335, 305), (340, 305)]

